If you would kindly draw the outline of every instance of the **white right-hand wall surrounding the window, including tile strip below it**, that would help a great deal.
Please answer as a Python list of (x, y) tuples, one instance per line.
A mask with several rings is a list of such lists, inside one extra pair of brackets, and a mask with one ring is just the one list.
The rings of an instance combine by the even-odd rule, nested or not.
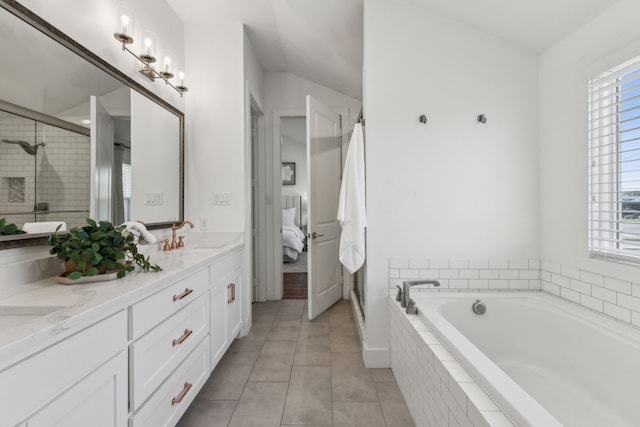
[(640, 3), (621, 1), (540, 57), (542, 286), (640, 326), (640, 268), (588, 255), (587, 80), (640, 55)]

